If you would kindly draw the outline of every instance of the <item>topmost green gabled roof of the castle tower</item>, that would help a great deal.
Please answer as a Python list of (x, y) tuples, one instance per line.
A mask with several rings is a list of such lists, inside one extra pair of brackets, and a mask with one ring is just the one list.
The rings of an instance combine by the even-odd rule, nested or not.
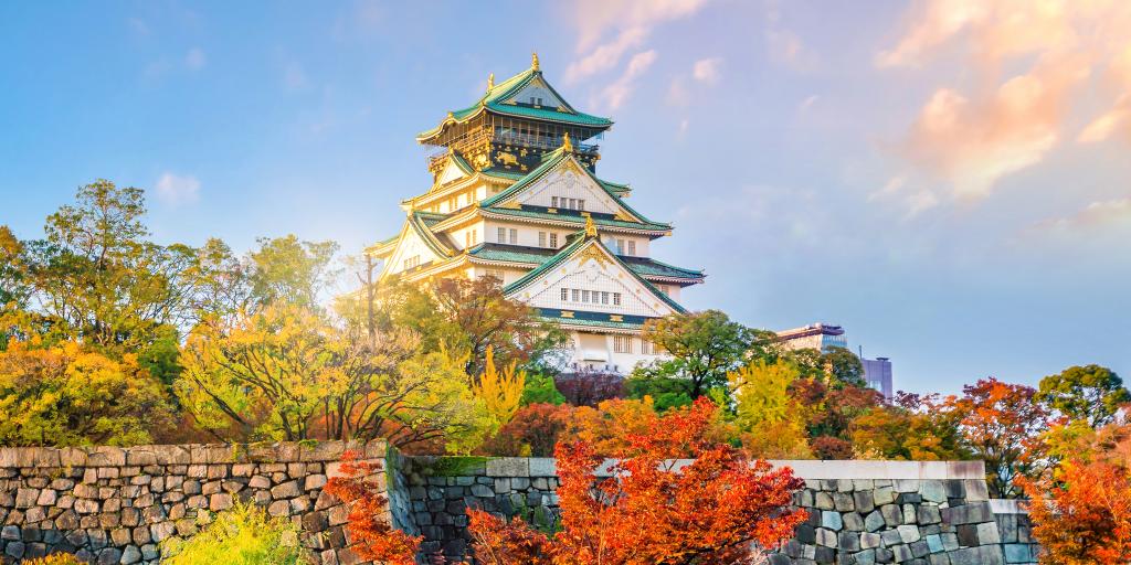
[[(538, 82), (541, 86), (544, 86), (559, 101), (561, 101), (561, 106), (528, 106), (509, 101), (511, 96), (517, 94), (530, 82)], [(423, 142), (442, 132), (443, 128), (449, 123), (466, 122), (485, 111), (501, 115), (547, 120), (595, 129), (607, 129), (613, 124), (613, 121), (607, 118), (590, 115), (575, 110), (573, 106), (566, 102), (566, 98), (558, 94), (558, 90), (555, 90), (554, 87), (551, 86), (545, 78), (543, 78), (542, 70), (538, 68), (537, 60), (535, 59), (535, 62), (530, 66), (530, 68), (508, 78), (507, 80), (503, 80), (502, 82), (491, 85), (483, 97), (476, 101), (475, 104), (472, 104), (463, 110), (454, 110), (449, 112), (448, 116), (444, 118), (439, 125), (432, 128), (431, 130), (421, 132), (416, 136), (416, 140)]]

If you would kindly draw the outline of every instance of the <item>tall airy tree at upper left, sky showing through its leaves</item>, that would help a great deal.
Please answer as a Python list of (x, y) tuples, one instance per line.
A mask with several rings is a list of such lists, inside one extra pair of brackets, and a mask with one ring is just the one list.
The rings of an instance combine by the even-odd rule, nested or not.
[(140, 189), (100, 180), (76, 200), (48, 217), (44, 241), (27, 245), (40, 308), (71, 338), (121, 350), (183, 322), (195, 250), (146, 241)]

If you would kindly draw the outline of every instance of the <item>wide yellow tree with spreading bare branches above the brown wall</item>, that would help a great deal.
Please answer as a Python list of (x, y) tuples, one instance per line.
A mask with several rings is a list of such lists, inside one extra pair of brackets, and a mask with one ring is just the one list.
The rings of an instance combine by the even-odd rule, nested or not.
[(193, 332), (176, 391), (224, 438), (447, 440), (467, 451), (491, 428), (463, 357), (423, 353), (411, 332), (370, 342), (294, 305), (271, 305), (224, 333)]

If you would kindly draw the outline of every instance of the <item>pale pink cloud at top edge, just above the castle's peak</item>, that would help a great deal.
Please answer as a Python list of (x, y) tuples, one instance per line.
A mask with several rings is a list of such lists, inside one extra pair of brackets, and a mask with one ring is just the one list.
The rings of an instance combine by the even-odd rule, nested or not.
[(582, 0), (571, 5), (580, 58), (566, 69), (566, 81), (615, 68), (630, 51), (645, 46), (651, 31), (699, 11), (708, 0)]

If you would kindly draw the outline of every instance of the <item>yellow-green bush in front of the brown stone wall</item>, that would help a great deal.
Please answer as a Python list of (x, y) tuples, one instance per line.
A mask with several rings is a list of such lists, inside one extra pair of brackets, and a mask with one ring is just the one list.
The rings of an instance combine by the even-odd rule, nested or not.
[(299, 565), (310, 563), (299, 544), (299, 528), (268, 518), (262, 508), (236, 503), (188, 540), (162, 546), (166, 565)]

